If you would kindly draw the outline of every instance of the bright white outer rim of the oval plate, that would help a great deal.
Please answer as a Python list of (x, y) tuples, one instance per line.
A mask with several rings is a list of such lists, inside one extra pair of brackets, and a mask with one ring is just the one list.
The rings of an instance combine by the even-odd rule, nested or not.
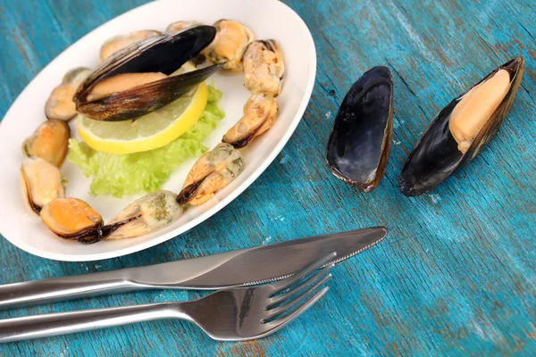
[[(162, 1), (162, 0), (161, 0)], [(171, 0), (170, 0), (171, 1)], [(259, 0), (257, 0), (259, 1)], [(297, 125), (299, 122), (303, 119), (304, 113), (306, 112), (306, 108), (310, 102), (311, 95), (313, 94), (313, 88), (314, 88), (314, 81), (316, 80), (316, 67), (317, 67), (317, 58), (316, 58), (316, 46), (314, 45), (314, 38), (310, 31), (310, 29), (307, 27), (306, 22), (295, 12), (291, 7), (289, 7), (288, 4), (282, 3), (280, 0), (262, 0), (265, 3), (272, 3), (273, 6), (280, 6), (282, 11), (289, 12), (291, 16), (295, 17), (297, 21), (300, 23), (300, 26), (302, 26), (306, 31), (306, 35), (308, 37), (308, 42), (310, 46), (308, 47), (309, 56), (312, 58), (311, 60), (311, 66), (309, 68), (309, 74), (308, 74), (308, 82), (305, 87), (304, 96), (301, 100), (301, 103), (299, 104), (299, 107), (297, 109), (297, 112), (294, 115), (294, 119), (290, 122), (289, 129), (287, 129), (284, 133), (284, 135), (280, 138), (277, 145), (273, 148), (272, 152), (264, 159), (263, 162), (260, 162), (258, 167), (247, 177), (247, 179), (236, 189), (234, 189), (232, 192), (230, 192), (229, 195), (226, 195), (222, 198), (222, 200), (216, 204), (214, 204), (213, 207), (209, 208), (206, 212), (201, 213), (197, 218), (194, 220), (188, 221), (186, 224), (183, 224), (179, 226), (178, 228), (175, 228), (169, 232), (164, 233), (163, 235), (159, 237), (155, 237), (153, 239), (150, 239), (146, 242), (141, 242), (137, 245), (132, 245), (128, 247), (124, 247), (118, 250), (115, 250), (113, 252), (106, 252), (106, 253), (91, 253), (87, 255), (71, 255), (71, 254), (64, 254), (64, 253), (50, 253), (47, 251), (42, 251), (41, 249), (38, 249), (31, 245), (26, 245), (25, 243), (21, 243), (20, 241), (16, 241), (13, 239), (10, 239), (9, 237), (4, 236), (2, 232), (2, 237), (4, 237), (8, 242), (15, 245), (16, 247), (20, 248), (21, 250), (36, 255), (41, 258), (51, 259), (54, 261), (60, 261), (60, 262), (95, 262), (95, 261), (101, 261), (105, 259), (111, 259), (111, 258), (117, 258), (124, 255), (128, 255), (131, 253), (137, 253), (143, 250), (146, 250), (147, 248), (153, 247), (155, 245), (160, 245), (163, 242), (166, 242), (172, 238), (180, 237), (180, 235), (188, 232), (191, 228), (196, 227), (198, 224), (201, 224), (205, 220), (208, 220), (210, 217), (214, 216), (217, 212), (220, 212), (224, 207), (226, 207), (229, 203), (231, 203), (233, 200), (235, 200), (239, 195), (241, 195), (247, 187), (250, 187), (256, 179), (259, 178), (270, 166), (270, 164), (275, 160), (278, 154), (281, 153), (281, 150), (287, 143), (289, 142), (290, 137), (294, 134), (294, 132), (297, 129)], [(84, 36), (80, 37), (77, 41), (72, 43), (70, 46), (65, 48), (62, 53), (58, 54), (54, 57), (50, 62), (46, 64), (46, 66), (38, 72), (38, 74), (29, 81), (28, 85), (24, 87), (21, 90), (21, 93), (17, 95), (15, 100), (13, 101), (13, 104), (10, 105), (7, 112), (4, 114), (4, 118), (6, 118), (10, 112), (12, 112), (13, 106), (17, 104), (21, 96), (24, 94), (24, 92), (32, 86), (32, 84), (38, 80), (38, 78), (43, 75), (44, 72), (48, 70), (48, 68), (55, 62), (58, 58), (63, 56), (65, 53), (67, 53), (72, 46), (76, 46), (80, 41), (84, 41), (86, 37), (90, 36), (93, 32), (96, 30), (106, 26), (110, 21), (114, 21), (118, 18), (121, 18), (123, 16), (128, 16), (130, 12), (137, 11), (140, 8), (151, 6), (155, 4), (155, 2), (149, 2), (147, 4), (142, 4), (137, 7), (134, 7), (126, 12), (122, 12), (118, 16), (115, 16), (113, 19), (110, 19), (109, 21), (105, 21), (103, 24), (99, 25), (95, 29), (92, 29)], [(4, 120), (0, 121), (0, 125), (2, 125), (2, 122)]]

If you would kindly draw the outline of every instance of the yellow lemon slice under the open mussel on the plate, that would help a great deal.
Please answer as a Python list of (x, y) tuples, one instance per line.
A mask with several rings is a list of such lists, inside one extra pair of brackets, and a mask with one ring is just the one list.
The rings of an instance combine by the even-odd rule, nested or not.
[[(187, 62), (172, 75), (195, 70)], [(208, 88), (201, 83), (172, 103), (135, 120), (102, 121), (79, 115), (77, 127), (82, 140), (97, 151), (130, 154), (153, 150), (188, 131), (205, 111), (207, 98)]]

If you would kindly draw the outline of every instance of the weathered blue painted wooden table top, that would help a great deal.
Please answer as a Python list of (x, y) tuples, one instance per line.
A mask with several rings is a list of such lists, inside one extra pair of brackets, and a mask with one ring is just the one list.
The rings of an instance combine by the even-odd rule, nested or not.
[[(0, 0), (0, 118), (64, 48), (144, 2)], [(389, 227), (388, 239), (340, 264), (331, 293), (289, 328), (261, 340), (217, 343), (187, 322), (165, 320), (2, 345), (0, 356), (536, 354), (536, 3), (286, 3), (313, 32), (317, 80), (304, 120), (254, 185), (187, 234), (117, 259), (53, 262), (0, 239), (0, 283), (168, 262), (375, 225)], [(498, 136), (431, 194), (399, 194), (406, 156), (436, 112), (518, 54), (526, 60), (525, 76)], [(377, 64), (393, 72), (395, 127), (381, 186), (362, 194), (331, 176), (324, 148), (348, 87)], [(9, 203), (2, 204), (2, 210), (9, 209)], [(0, 319), (198, 294), (105, 296), (0, 311)]]

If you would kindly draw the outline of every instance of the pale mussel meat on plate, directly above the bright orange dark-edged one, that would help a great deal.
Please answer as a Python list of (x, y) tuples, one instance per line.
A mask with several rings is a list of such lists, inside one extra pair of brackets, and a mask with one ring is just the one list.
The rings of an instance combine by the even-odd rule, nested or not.
[(58, 197), (65, 196), (60, 170), (40, 157), (27, 157), (21, 165), (21, 189), (24, 200), (33, 212)]

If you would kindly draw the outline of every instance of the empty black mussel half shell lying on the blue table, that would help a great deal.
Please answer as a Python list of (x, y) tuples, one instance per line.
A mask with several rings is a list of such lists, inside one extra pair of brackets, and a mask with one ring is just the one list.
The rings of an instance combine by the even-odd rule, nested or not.
[(378, 186), (389, 158), (393, 79), (387, 67), (366, 71), (340, 104), (326, 161), (338, 179), (364, 192)]

